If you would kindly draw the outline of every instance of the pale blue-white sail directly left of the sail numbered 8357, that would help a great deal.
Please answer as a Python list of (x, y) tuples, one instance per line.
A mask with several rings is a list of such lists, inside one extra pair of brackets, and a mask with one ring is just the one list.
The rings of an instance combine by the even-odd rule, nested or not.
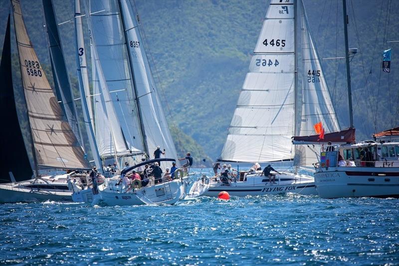
[[(88, 10), (88, 9), (86, 9)], [(132, 89), (132, 79), (129, 74), (126, 45), (120, 21), (120, 14), (115, 1), (99, 0), (91, 2), (92, 15), (90, 15), (92, 41), (96, 55), (96, 71), (100, 83), (105, 83), (98, 88), (102, 90), (105, 111), (108, 114), (112, 137), (118, 147), (118, 142), (125, 142), (125, 151), (141, 153), (143, 150), (138, 109)], [(95, 13), (95, 11), (104, 10)], [(92, 55), (93, 56), (93, 55)], [(105, 87), (106, 86), (106, 87)], [(108, 93), (107, 93), (108, 92)], [(115, 118), (112, 118), (112, 109)], [(97, 123), (97, 117), (95, 118)], [(112, 125), (118, 121), (122, 135), (114, 134), (116, 127)], [(97, 129), (97, 126), (96, 126)], [(97, 138), (97, 132), (96, 132)], [(122, 152), (117, 148), (117, 152)]]

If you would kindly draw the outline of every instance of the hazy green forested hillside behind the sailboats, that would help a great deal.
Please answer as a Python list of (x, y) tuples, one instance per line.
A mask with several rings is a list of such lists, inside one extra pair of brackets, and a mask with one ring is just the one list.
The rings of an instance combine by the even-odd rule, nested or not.
[[(28, 33), (42, 63), (49, 63), (40, 0), (22, 0)], [(73, 18), (72, 0), (55, 0), (58, 22)], [(215, 159), (260, 32), (266, 0), (136, 0), (179, 155)], [(343, 57), (341, 0), (304, 0), (320, 58)], [(0, 3), (3, 38), (9, 2)], [(92, 10), (95, 11), (95, 10)], [(399, 124), (398, 0), (348, 0), (357, 139)], [(85, 21), (85, 20), (84, 20)], [(59, 26), (75, 75), (72, 22)], [(86, 30), (87, 31), (87, 30)], [(87, 32), (86, 32), (87, 34)], [(393, 48), (391, 73), (381, 71), (382, 51)], [(344, 59), (324, 59), (324, 73), (342, 128), (349, 126)], [(367, 80), (367, 82), (366, 82)], [(203, 148), (203, 150), (202, 150)], [(208, 159), (209, 161), (209, 159)]]

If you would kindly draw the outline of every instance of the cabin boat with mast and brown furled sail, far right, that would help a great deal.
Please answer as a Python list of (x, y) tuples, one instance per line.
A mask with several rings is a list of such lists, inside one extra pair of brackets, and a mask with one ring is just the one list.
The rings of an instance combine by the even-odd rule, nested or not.
[[(330, 147), (320, 150), (315, 183), (321, 198), (395, 197), (399, 198), (399, 142), (385, 142), (384, 137), (398, 136), (397, 128), (376, 133), (376, 141), (356, 143), (352, 111), (350, 49), (346, 0), (343, 0), (345, 59), (348, 82), (349, 129), (326, 134), (322, 140)], [(381, 138), (381, 139), (380, 139)], [(294, 137), (299, 144), (320, 143), (317, 136)]]

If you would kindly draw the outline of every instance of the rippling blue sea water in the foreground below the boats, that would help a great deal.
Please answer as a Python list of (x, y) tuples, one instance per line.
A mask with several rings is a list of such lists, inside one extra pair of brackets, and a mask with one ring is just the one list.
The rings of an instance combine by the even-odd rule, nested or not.
[(396, 199), (0, 205), (0, 264), (399, 265)]

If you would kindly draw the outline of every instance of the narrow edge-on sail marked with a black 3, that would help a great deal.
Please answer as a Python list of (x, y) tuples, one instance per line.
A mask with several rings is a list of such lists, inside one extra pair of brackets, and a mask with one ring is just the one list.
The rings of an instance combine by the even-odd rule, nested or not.
[[(86, 68), (86, 49), (84, 47), (83, 39), (83, 28), (82, 28), (82, 17), (80, 15), (80, 0), (75, 0), (75, 38), (76, 38), (76, 65), (79, 80), (79, 92), (80, 92), (80, 102), (82, 103), (83, 109), (83, 119), (87, 131), (87, 137), (90, 143), (90, 149), (94, 157), (95, 165), (97, 169), (102, 169), (100, 154), (98, 152), (98, 147), (96, 139), (94, 136), (93, 124), (91, 123), (89, 108), (87, 104), (87, 95), (85, 92), (90, 91), (88, 88), (88, 77)], [(83, 71), (85, 74), (85, 83), (83, 82)], [(86, 85), (86, 86), (85, 86)]]

